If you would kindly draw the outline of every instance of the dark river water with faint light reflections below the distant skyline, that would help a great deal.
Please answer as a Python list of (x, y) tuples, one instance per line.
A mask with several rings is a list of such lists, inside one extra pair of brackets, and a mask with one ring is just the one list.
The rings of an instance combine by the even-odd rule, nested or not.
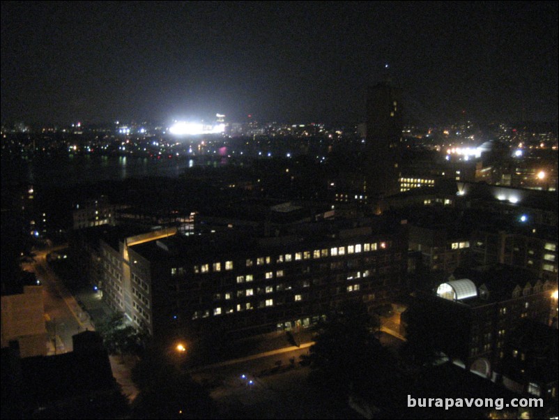
[[(206, 162), (207, 163), (207, 162)], [(192, 158), (151, 159), (118, 156), (43, 157), (2, 160), (2, 181), (20, 181), (43, 186), (72, 186), (125, 178), (178, 177), (194, 165)]]

